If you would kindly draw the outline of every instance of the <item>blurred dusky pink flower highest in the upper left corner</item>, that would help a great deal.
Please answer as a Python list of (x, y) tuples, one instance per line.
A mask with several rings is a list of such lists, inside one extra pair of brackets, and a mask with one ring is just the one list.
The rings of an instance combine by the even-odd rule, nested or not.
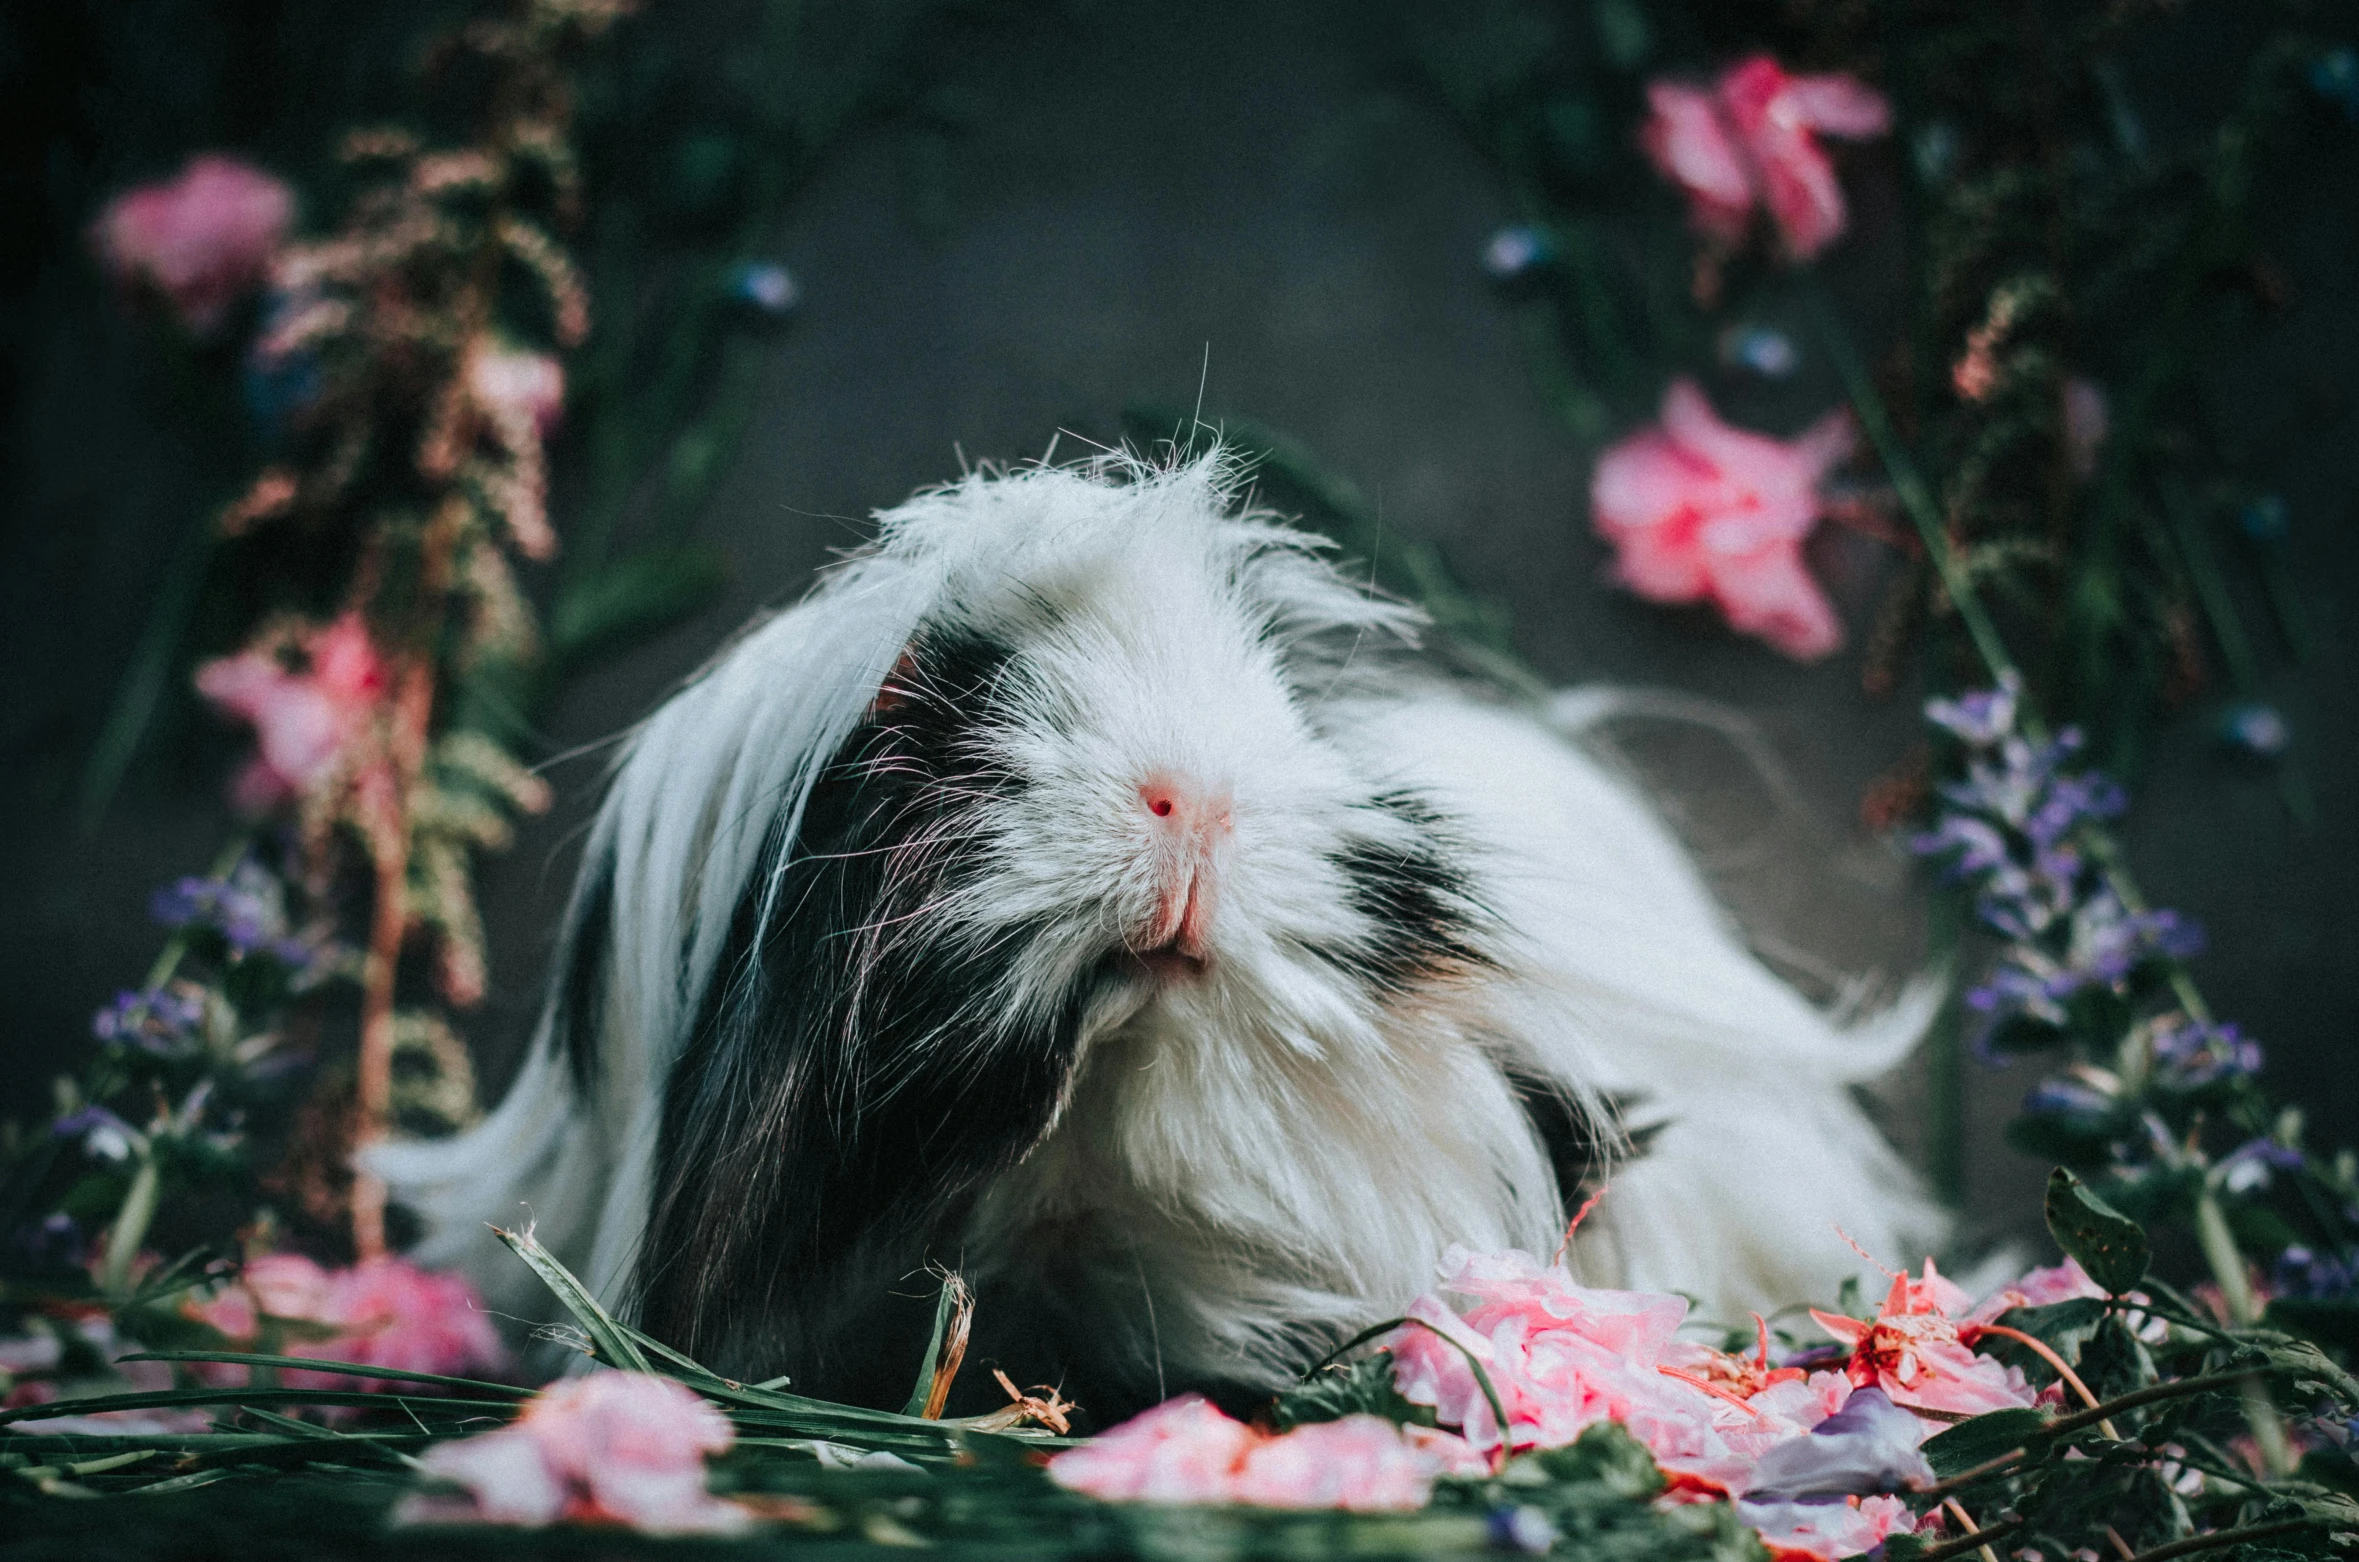
[(262, 283), (293, 219), (283, 182), (208, 153), (177, 179), (109, 201), (92, 238), (116, 281), (156, 288), (189, 330), (208, 333)]

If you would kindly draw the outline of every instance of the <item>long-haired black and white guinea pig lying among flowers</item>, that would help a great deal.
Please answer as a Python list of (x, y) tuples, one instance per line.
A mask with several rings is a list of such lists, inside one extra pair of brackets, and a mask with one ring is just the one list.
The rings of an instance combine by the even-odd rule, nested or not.
[[(1102, 1425), (1283, 1385), (1451, 1243), (1741, 1319), (1939, 1218), (1840, 1029), (1545, 713), (1236, 512), (1222, 458), (972, 474), (635, 734), (533, 1052), (375, 1154), (422, 1258), (540, 1239), (715, 1371), (899, 1404), (929, 1267)], [(1658, 1128), (1625, 1147), (1616, 1102)], [(1840, 1232), (1838, 1232), (1840, 1229)], [(981, 1373), (967, 1373), (981, 1378)], [(988, 1380), (986, 1380), (988, 1387)]]

